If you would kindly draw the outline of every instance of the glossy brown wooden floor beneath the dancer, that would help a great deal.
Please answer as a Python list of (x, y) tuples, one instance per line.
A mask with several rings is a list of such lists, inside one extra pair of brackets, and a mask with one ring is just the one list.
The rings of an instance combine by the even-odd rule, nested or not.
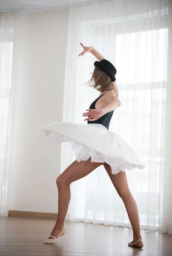
[(172, 236), (141, 231), (143, 249), (128, 247), (132, 230), (65, 222), (56, 244), (43, 244), (54, 220), (0, 218), (0, 256), (172, 256)]

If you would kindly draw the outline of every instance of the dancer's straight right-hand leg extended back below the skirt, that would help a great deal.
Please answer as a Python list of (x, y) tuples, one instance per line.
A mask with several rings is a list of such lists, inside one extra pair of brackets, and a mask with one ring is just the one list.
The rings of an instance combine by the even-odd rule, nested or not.
[[(104, 167), (110, 179), (112, 180), (112, 183), (115, 186), (115, 189), (117, 190), (118, 195), (122, 198), (123, 203), (125, 204), (126, 211), (128, 213), (129, 220), (131, 222), (132, 229), (133, 229), (132, 242), (138, 241), (139, 239), (141, 239), (138, 207), (134, 198), (132, 197), (131, 192), (129, 191), (129, 186), (126, 179), (126, 173), (119, 172), (118, 174), (113, 175), (111, 167), (107, 163), (104, 163)], [(139, 241), (135, 245), (141, 248), (143, 247), (143, 242)]]

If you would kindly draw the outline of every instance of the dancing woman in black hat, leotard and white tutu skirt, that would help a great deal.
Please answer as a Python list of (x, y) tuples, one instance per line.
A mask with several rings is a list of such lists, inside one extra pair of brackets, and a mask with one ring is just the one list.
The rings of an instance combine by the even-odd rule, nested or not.
[(51, 236), (44, 243), (53, 244), (65, 233), (64, 220), (71, 196), (70, 184), (103, 165), (125, 204), (132, 224), (133, 241), (129, 246), (142, 248), (138, 209), (129, 191), (125, 168), (131, 170), (135, 167), (143, 168), (143, 165), (129, 145), (118, 134), (109, 131), (112, 114), (120, 106), (115, 81), (117, 71), (94, 47), (84, 47), (80, 44), (83, 47), (80, 55), (91, 52), (98, 59), (94, 64), (92, 78), (87, 84), (100, 91), (100, 96), (92, 102), (87, 112), (83, 113), (86, 117), (84, 121), (88, 124), (53, 122), (43, 128), (50, 139), (72, 143), (77, 158), (57, 178), (58, 217)]

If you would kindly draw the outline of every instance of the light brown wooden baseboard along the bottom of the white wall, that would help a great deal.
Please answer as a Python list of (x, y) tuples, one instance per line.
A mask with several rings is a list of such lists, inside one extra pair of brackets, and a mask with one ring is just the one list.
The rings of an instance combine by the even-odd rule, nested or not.
[(38, 219), (57, 219), (57, 213), (47, 212), (26, 212), (9, 210), (9, 217), (38, 218)]

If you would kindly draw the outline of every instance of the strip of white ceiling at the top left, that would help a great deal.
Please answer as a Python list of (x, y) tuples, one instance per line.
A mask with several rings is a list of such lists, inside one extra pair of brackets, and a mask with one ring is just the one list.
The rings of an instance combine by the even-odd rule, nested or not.
[(70, 4), (92, 2), (95, 0), (0, 0), (0, 11), (65, 8)]

